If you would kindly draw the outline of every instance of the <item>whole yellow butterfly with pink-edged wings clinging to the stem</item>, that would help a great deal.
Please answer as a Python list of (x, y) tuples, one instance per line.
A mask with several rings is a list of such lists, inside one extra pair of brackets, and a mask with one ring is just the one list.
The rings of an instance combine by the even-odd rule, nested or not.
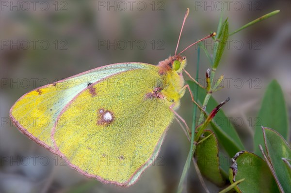
[(177, 54), (178, 44), (158, 65), (116, 63), (34, 89), (11, 107), (10, 118), (82, 175), (130, 186), (154, 162), (173, 119), (185, 123), (175, 111), (189, 89), (181, 53), (194, 44)]

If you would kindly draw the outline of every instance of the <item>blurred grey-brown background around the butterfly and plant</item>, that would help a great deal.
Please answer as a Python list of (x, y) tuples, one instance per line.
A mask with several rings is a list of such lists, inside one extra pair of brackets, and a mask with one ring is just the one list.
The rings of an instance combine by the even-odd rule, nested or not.
[[(291, 111), (291, 1), (0, 1), (0, 191), (1, 192), (176, 192), (190, 144), (174, 122), (160, 160), (125, 189), (82, 177), (56, 155), (18, 132), (9, 109), (26, 92), (99, 66), (118, 62), (157, 64), (173, 55), (186, 8), (190, 8), (178, 51), (216, 31), (220, 14), (232, 32), (271, 11), (279, 14), (230, 37), (217, 77), (225, 88), (217, 101), (246, 150), (252, 150), (255, 117), (272, 79), (281, 85)], [(213, 41), (205, 41), (210, 53)], [(197, 46), (184, 52), (194, 76)], [(199, 76), (210, 63), (201, 50)], [(185, 79), (189, 79), (184, 76)], [(205, 82), (203, 81), (202, 84)], [(188, 125), (192, 104), (186, 93), (178, 110)], [(253, 120), (253, 121), (250, 121)], [(191, 164), (193, 167), (193, 164)], [(189, 192), (203, 192), (194, 168)], [(206, 180), (211, 191), (219, 189)]]

